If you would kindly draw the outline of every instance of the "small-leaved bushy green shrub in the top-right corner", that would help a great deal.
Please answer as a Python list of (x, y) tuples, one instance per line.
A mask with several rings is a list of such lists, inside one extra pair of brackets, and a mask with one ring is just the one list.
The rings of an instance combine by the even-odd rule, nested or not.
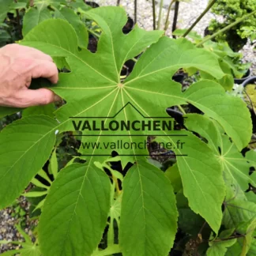
[[(224, 21), (211, 21), (209, 24), (209, 32), (217, 32), (228, 24), (237, 21), (239, 18), (254, 12), (254, 10), (256, 10), (254, 0), (217, 0), (212, 8), (212, 12), (224, 17)], [(220, 42), (226, 41), (234, 51), (239, 51), (243, 45), (247, 43), (248, 37), (250, 40), (255, 39), (255, 28), (256, 14), (236, 24), (233, 28), (229, 29), (228, 32), (216, 36), (215, 40)]]

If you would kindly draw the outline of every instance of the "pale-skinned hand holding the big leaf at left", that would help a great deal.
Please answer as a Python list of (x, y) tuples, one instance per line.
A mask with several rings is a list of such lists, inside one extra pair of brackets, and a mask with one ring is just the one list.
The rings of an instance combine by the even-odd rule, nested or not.
[(58, 69), (51, 56), (17, 43), (0, 48), (0, 106), (31, 107), (60, 100), (50, 89), (29, 89), (32, 78), (58, 82)]

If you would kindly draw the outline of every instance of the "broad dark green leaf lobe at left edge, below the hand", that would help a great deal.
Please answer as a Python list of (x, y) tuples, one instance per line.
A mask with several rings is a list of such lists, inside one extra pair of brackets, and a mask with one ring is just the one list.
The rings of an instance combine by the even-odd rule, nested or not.
[(13, 122), (0, 133), (1, 209), (21, 194), (47, 161), (55, 144), (56, 124), (36, 115)]

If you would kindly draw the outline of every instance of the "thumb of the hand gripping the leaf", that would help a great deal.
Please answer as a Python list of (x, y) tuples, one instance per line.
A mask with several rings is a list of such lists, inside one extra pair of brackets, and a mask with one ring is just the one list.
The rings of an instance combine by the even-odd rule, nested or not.
[(25, 89), (17, 93), (15, 107), (47, 105), (59, 99), (60, 98), (55, 94), (55, 92), (52, 92), (47, 88), (39, 88), (37, 90)]

